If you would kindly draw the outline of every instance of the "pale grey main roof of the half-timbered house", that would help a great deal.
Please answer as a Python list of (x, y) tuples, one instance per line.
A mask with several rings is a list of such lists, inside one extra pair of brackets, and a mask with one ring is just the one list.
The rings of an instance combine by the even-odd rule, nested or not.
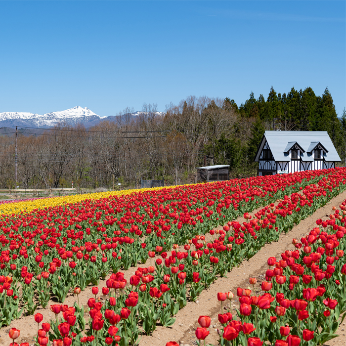
[(275, 161), (291, 161), (285, 150), (292, 145), (292, 142), (299, 143), (299, 146), (305, 151), (301, 154), (303, 161), (314, 161), (311, 150), (318, 143), (326, 149), (323, 154), (326, 161), (341, 161), (327, 131), (265, 131), (255, 161), (259, 161), (259, 155), (265, 140)]

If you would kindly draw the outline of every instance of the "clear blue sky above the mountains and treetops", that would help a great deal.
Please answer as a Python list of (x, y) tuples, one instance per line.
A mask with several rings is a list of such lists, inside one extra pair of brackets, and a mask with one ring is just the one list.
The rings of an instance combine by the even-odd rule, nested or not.
[(0, 1), (0, 112), (100, 116), (189, 95), (328, 87), (346, 107), (345, 1)]

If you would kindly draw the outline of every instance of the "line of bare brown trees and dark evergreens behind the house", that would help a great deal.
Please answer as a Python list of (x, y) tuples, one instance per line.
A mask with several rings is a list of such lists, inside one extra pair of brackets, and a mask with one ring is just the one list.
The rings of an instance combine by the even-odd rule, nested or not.
[[(193, 181), (196, 167), (222, 164), (230, 177), (256, 175), (265, 130), (327, 130), (345, 165), (346, 111), (338, 118), (328, 88), (317, 96), (311, 87), (282, 95), (271, 87), (266, 100), (251, 92), (240, 106), (189, 96), (167, 105), (164, 116), (156, 112), (156, 104), (143, 104), (136, 118), (127, 108), (88, 129), (62, 123), (42, 134), (19, 130), (17, 186), (137, 188), (141, 178), (182, 184)], [(15, 185), (14, 139), (0, 135), (0, 188)]]

